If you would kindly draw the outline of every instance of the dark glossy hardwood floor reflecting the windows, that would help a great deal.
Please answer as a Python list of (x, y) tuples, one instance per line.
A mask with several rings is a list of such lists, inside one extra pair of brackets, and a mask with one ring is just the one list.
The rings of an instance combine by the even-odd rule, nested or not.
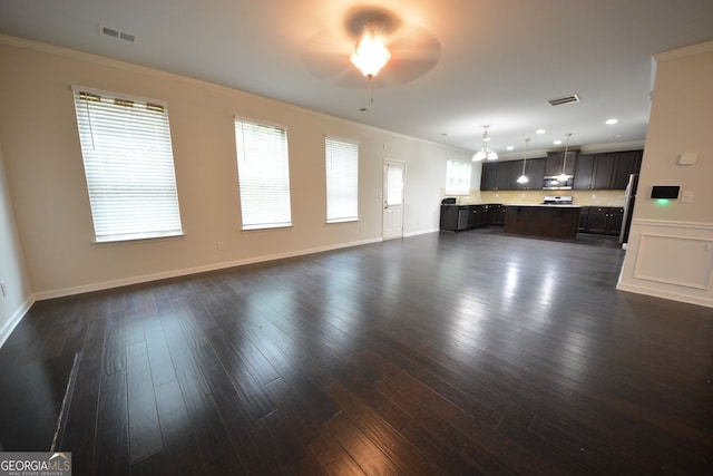
[(616, 291), (623, 258), (489, 227), (37, 302), (0, 349), (2, 449), (55, 439), (75, 475), (713, 474), (713, 310)]

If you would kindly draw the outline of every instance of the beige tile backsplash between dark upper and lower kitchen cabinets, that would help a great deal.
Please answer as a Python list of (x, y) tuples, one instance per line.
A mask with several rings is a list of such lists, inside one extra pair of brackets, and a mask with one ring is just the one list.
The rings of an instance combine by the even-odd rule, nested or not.
[[(624, 191), (470, 191), (457, 197), (458, 203), (543, 203), (545, 195), (572, 195), (575, 205), (624, 206)], [(446, 196), (446, 195), (443, 195)]]

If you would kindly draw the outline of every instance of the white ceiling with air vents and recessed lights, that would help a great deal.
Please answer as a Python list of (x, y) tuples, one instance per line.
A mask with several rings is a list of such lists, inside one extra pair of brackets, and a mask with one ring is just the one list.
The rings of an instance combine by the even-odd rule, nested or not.
[[(652, 55), (713, 40), (712, 0), (381, 0), (398, 21), (373, 81), (350, 0), (0, 0), (0, 32), (204, 79), (476, 150), (642, 145)], [(100, 26), (136, 42), (100, 33)], [(3, 65), (3, 68), (8, 65)], [(580, 103), (547, 100), (578, 94)], [(367, 108), (368, 110), (360, 110)], [(605, 125), (615, 117), (618, 124)], [(546, 134), (536, 135), (535, 129)], [(515, 146), (510, 153), (507, 146)]]

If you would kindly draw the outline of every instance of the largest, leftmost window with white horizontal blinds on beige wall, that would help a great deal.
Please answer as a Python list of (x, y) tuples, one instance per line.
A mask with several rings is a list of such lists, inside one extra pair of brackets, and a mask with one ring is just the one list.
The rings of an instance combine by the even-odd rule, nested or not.
[(74, 91), (96, 241), (182, 234), (166, 105)]

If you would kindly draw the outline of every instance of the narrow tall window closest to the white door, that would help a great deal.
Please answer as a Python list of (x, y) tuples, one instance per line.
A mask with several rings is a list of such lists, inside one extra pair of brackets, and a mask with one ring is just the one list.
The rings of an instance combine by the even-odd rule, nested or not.
[(359, 144), (324, 139), (326, 166), (326, 223), (359, 220)]

